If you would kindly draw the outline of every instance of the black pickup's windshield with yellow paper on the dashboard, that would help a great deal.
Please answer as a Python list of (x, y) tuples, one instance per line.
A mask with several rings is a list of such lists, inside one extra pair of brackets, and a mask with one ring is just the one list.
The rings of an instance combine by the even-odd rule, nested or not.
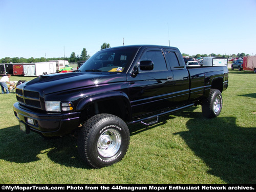
[(80, 72), (123, 72), (129, 67), (138, 48), (104, 49), (95, 53), (78, 69)]

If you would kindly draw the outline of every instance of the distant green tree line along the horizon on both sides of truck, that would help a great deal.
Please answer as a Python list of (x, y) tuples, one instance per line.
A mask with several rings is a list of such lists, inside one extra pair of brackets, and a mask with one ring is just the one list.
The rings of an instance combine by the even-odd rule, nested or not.
[[(102, 46), (100, 47), (100, 50), (102, 49), (107, 49), (107, 48), (111, 48), (110, 44), (106, 44), (106, 42), (104, 42), (102, 44)], [(221, 55), (221, 54), (215, 54), (215, 53), (211, 53), (209, 55), (207, 54), (197, 54), (197, 55), (189, 55), (189, 54), (185, 54), (183, 53), (182, 56), (188, 56), (188, 57), (194, 57), (194, 58), (198, 58), (198, 57), (207, 57), (207, 56), (212, 56), (212, 57), (244, 57), (247, 56), (249, 54), (245, 53), (238, 53), (236, 54), (232, 54), (232, 55)], [(24, 58), (24, 57), (5, 57), (0, 59), (0, 63), (31, 63), (31, 62), (46, 62), (46, 61), (50, 61), (50, 60), (68, 60), (69, 62), (77, 62), (80, 60), (88, 60), (91, 56), (87, 53), (86, 48), (82, 49), (82, 52), (80, 55), (76, 55), (75, 52), (72, 52), (70, 57), (53, 57), (53, 58), (45, 58), (45, 57), (41, 57), (41, 58)]]

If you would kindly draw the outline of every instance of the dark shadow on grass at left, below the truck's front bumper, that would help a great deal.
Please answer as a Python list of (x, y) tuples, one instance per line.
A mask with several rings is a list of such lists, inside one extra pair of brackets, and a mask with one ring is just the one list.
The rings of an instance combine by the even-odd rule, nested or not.
[(70, 136), (45, 139), (33, 132), (24, 134), (17, 125), (1, 129), (0, 139), (0, 159), (9, 162), (30, 163), (49, 158), (54, 163), (68, 167), (91, 169), (77, 152), (76, 138)]

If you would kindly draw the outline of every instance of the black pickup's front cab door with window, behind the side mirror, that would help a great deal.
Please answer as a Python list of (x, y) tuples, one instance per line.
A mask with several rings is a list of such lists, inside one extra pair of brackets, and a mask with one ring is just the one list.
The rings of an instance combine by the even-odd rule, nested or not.
[(166, 64), (160, 48), (147, 48), (140, 61), (153, 61), (153, 70), (141, 70), (127, 76), (129, 98), (133, 117), (158, 113), (172, 106), (174, 81), (173, 73)]

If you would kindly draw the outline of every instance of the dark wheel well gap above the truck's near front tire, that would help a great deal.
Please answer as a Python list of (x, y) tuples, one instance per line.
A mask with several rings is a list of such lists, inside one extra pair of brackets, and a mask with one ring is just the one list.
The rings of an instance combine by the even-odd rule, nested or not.
[(106, 98), (88, 103), (81, 113), (81, 120), (85, 121), (94, 115), (102, 113), (115, 115), (123, 121), (131, 120), (130, 105), (120, 97)]

